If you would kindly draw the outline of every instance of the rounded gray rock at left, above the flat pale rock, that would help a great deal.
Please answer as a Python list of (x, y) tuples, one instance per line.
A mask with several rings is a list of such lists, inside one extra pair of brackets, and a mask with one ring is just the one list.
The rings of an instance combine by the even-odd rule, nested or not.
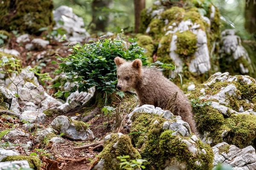
[(20, 95), (20, 103), (26, 105), (27, 102), (33, 102), (35, 105), (39, 105), (44, 99), (44, 88), (39, 85), (38, 87), (27, 82), (23, 88), (18, 91)]

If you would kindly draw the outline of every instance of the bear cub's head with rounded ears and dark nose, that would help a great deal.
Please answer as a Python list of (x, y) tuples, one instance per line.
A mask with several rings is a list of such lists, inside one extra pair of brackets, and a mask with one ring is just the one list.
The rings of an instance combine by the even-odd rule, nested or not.
[(141, 77), (142, 61), (135, 59), (133, 62), (128, 62), (120, 57), (115, 58), (117, 71), (117, 89), (119, 91), (127, 91), (130, 88), (136, 88), (138, 79)]

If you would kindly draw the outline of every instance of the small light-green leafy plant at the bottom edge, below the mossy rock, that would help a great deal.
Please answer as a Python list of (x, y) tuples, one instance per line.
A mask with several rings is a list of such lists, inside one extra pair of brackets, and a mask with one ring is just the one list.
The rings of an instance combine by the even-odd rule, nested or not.
[[(144, 159), (134, 159), (134, 160), (129, 160), (130, 156), (117, 156), (117, 159), (121, 161), (120, 169), (123, 170), (137, 170), (137, 169), (145, 169), (145, 166), (143, 166), (143, 162), (146, 162)], [(128, 159), (128, 160), (127, 160)]]

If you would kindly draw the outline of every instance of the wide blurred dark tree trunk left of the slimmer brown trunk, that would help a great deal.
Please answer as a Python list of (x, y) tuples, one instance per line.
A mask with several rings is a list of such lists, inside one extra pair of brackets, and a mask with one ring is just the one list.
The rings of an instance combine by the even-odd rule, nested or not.
[(93, 0), (92, 10), (93, 10), (93, 20), (92, 23), (95, 24), (94, 31), (105, 31), (108, 26), (109, 14), (104, 14), (102, 8), (109, 8), (112, 0)]

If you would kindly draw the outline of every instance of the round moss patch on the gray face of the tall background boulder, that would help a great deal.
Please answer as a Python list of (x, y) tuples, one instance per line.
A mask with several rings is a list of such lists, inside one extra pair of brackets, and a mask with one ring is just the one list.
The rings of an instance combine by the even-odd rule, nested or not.
[(191, 31), (177, 32), (177, 50), (181, 57), (192, 56), (197, 49), (197, 37)]

